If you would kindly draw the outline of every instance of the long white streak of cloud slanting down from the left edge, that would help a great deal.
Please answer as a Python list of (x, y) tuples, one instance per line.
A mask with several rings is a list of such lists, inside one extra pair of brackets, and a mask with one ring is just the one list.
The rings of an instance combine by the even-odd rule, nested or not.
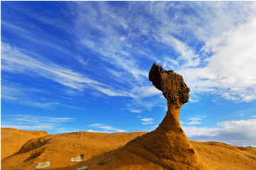
[[(107, 89), (105, 84), (92, 80), (84, 74), (61, 67), (41, 57), (31, 57), (23, 54), (19, 49), (11, 47), (5, 42), (0, 41), (0, 69), (4, 72), (23, 73), (35, 77), (51, 79), (64, 86), (83, 91), (85, 88), (95, 89), (107, 94), (108, 96), (127, 96), (124, 92), (112, 91)], [(104, 86), (104, 87), (102, 87)]]

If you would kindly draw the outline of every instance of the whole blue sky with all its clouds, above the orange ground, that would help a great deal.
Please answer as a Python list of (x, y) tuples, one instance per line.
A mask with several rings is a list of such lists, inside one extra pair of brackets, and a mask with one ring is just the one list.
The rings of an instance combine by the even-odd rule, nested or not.
[(0, 128), (150, 132), (166, 99), (152, 64), (191, 89), (189, 140), (256, 147), (256, 1), (1, 0)]

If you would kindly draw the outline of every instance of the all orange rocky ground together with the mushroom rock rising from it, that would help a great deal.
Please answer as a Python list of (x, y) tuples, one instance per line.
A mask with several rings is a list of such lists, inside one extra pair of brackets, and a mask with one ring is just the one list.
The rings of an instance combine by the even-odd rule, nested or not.
[(189, 88), (180, 74), (155, 63), (149, 80), (168, 111), (152, 132), (71, 132), (0, 129), (0, 169), (256, 169), (256, 148), (189, 141), (178, 120)]

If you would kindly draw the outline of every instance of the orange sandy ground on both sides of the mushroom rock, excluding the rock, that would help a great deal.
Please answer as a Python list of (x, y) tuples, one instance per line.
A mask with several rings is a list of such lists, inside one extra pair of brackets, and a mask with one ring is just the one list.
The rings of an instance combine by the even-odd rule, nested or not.
[[(89, 169), (164, 169), (154, 162), (123, 149), (127, 142), (144, 135), (145, 132), (113, 134), (71, 132), (61, 135), (46, 135), (46, 132), (14, 129), (0, 129), (0, 132), (1, 158), (6, 157), (6, 150), (11, 155), (17, 152), (17, 148), (19, 149), (11, 157), (0, 160), (0, 169), (3, 170), (35, 169), (38, 163), (46, 161), (52, 164), (45, 169), (59, 170), (74, 170), (85, 165), (89, 165)], [(32, 139), (36, 135), (39, 135), (38, 138)], [(40, 135), (46, 136), (40, 137)], [(12, 139), (16, 142), (11, 142)], [(25, 139), (27, 142), (23, 145)], [(191, 141), (191, 143), (201, 159), (215, 169), (256, 169), (256, 148), (254, 147), (234, 147), (220, 142)], [(104, 162), (113, 155), (115, 156), (112, 159)], [(70, 162), (71, 158), (78, 156), (84, 157), (85, 161)]]

